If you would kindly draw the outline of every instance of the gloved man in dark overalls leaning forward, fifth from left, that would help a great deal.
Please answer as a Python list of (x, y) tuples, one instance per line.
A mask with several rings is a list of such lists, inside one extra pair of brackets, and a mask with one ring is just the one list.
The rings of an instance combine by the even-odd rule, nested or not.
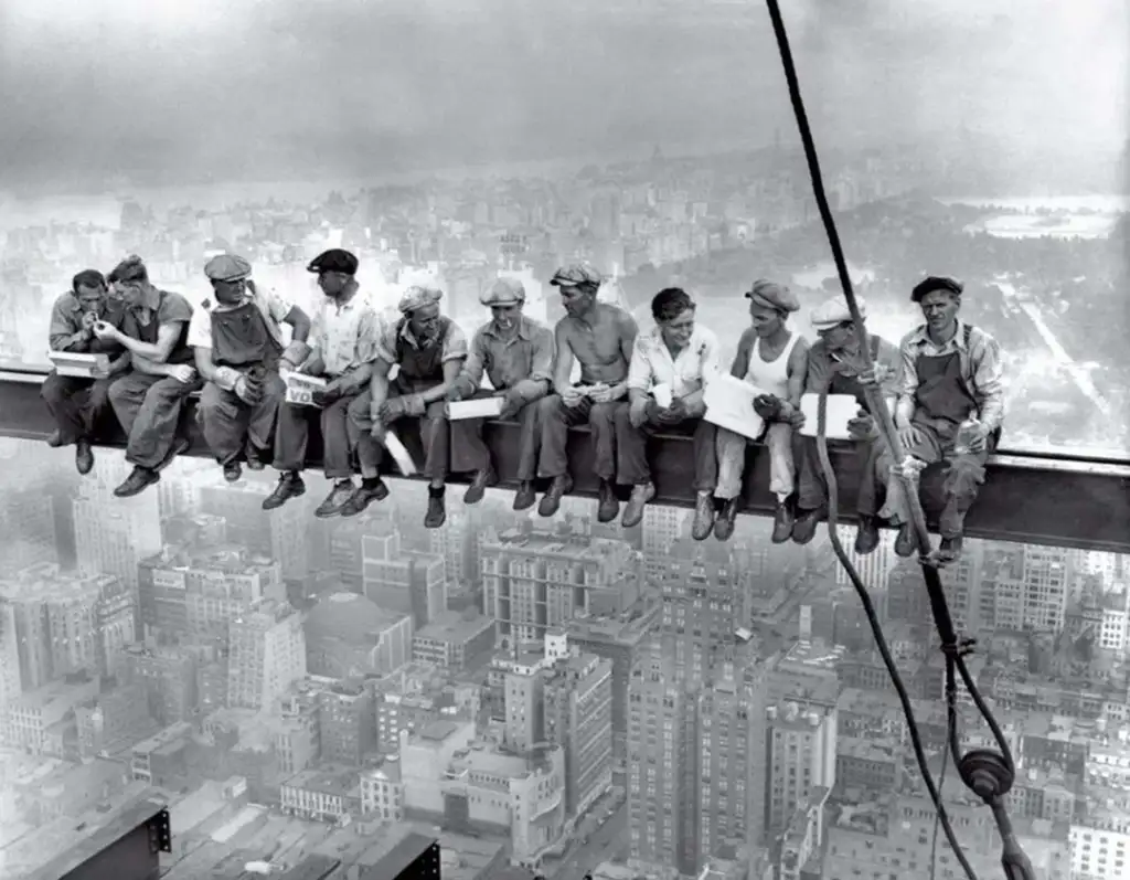
[[(362, 474), (376, 481), (367, 495), (358, 494), (347, 512), (360, 512), (371, 501), (389, 494), (376, 476), (385, 430), (405, 417), (416, 420), (424, 447), (424, 476), (428, 478), (427, 512), (424, 525), (438, 528), (447, 519), (444, 484), (451, 455), (451, 433), (444, 402), (452, 382), (467, 359), (467, 337), (451, 318), (440, 313), (443, 293), (412, 285), (400, 297), (400, 320), (384, 328), (377, 347), (377, 361), (368, 391), (350, 409), (350, 419), (360, 433), (358, 454)], [(389, 372), (397, 365), (397, 378)]]

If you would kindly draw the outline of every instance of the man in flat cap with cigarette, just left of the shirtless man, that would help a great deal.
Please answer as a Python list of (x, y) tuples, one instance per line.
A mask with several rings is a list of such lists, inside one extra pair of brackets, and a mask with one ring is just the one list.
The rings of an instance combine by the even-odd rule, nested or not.
[[(522, 314), (525, 287), (516, 278), (498, 278), (479, 295), (492, 312), (471, 338), (470, 352), (459, 378), (447, 390), (447, 399), (493, 396), (503, 398), (499, 419), (516, 419), (521, 428), (518, 451), (518, 492), (514, 510), (527, 510), (537, 500), (533, 480), (538, 473), (538, 402), (549, 391), (554, 372), (554, 334), (532, 318)], [(483, 373), (490, 379), (490, 391), (479, 388)], [(483, 442), (483, 419), (451, 423), (452, 467), (455, 473), (473, 472), (475, 477), (463, 503), (483, 500), (488, 485), (496, 481), (490, 450)]]

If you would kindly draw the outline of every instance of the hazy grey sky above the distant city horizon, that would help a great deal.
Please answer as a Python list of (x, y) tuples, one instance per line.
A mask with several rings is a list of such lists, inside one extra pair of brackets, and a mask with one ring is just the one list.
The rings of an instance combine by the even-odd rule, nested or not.
[[(822, 140), (1127, 137), (1125, 0), (783, 6)], [(9, 180), (793, 137), (762, 0), (0, 0), (0, 52)]]

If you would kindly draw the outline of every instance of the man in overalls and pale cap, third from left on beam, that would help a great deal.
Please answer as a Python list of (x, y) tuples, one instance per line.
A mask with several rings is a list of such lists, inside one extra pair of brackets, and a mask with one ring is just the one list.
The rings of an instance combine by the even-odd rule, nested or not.
[[(297, 305), (260, 293), (243, 257), (212, 257), (205, 275), (216, 300), (206, 300), (189, 325), (189, 345), (206, 382), (197, 417), (224, 478), (234, 483), (242, 475), (241, 456), (252, 471), (263, 469), (286, 396), (279, 370), (294, 370), (310, 355), (310, 318)], [(289, 346), (284, 345), (282, 323), (293, 328)]]

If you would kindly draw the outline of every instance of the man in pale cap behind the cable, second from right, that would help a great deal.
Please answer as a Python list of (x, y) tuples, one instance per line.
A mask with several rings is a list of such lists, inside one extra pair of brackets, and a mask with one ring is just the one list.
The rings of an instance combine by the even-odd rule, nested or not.
[[(857, 297), (860, 314), (867, 318), (867, 303)], [(851, 395), (859, 404), (855, 419), (847, 428), (853, 438), (852, 447), (859, 459), (860, 474), (863, 481), (873, 480), (875, 459), (881, 441), (879, 428), (871, 415), (871, 408), (863, 392), (864, 386), (859, 377), (875, 373), (867, 368), (859, 351), (859, 337), (852, 322), (847, 300), (843, 294), (825, 300), (812, 310), (810, 317), (812, 329), (819, 337), (808, 351), (808, 371), (805, 377), (805, 394), (819, 394), (822, 386), (832, 373), (829, 395)], [(868, 335), (871, 360), (877, 373), (883, 378), (880, 392), (887, 400), (887, 407), (894, 412), (895, 399), (898, 396), (898, 374), (902, 363), (898, 346), (875, 335)], [(797, 463), (797, 519), (792, 526), (792, 540), (798, 544), (807, 544), (816, 534), (816, 528), (828, 514), (828, 484), (820, 467), (815, 437), (800, 434), (805, 424), (805, 414), (799, 409), (792, 419), (797, 430), (793, 438), (793, 452)], [(814, 425), (815, 426), (815, 425)], [(834, 446), (831, 441), (829, 446)], [(870, 553), (879, 544), (879, 526), (873, 516), (867, 512), (860, 516), (859, 530), (855, 536), (855, 552)]]

